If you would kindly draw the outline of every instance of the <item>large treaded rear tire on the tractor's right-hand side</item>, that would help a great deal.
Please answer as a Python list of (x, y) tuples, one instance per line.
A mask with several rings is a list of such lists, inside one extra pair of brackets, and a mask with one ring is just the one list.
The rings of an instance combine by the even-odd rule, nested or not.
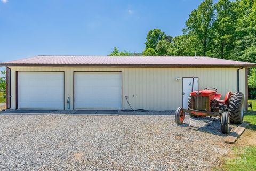
[(232, 93), (228, 106), (230, 121), (240, 124), (244, 119), (244, 94), (241, 92)]

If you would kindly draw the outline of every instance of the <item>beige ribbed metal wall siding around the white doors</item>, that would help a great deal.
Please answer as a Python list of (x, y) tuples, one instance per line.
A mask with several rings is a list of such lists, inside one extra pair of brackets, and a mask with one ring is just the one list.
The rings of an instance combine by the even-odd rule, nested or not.
[[(65, 71), (65, 101), (70, 97), (73, 109), (74, 71), (122, 71), (123, 109), (129, 109), (125, 96), (134, 109), (175, 110), (182, 105), (182, 80), (198, 77), (199, 89), (214, 87), (222, 94), (237, 91), (238, 68), (76, 68), (76, 67), (11, 67), (12, 109), (15, 109), (16, 71)], [(245, 69), (240, 70), (240, 91), (245, 94)], [(133, 97), (134, 95), (134, 97)], [(67, 105), (65, 105), (67, 109)]]

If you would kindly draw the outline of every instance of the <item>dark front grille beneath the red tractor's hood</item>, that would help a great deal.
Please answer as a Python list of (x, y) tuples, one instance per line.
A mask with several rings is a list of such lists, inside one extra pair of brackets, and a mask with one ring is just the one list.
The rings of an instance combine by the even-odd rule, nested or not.
[(192, 96), (191, 97), (191, 109), (208, 111), (209, 110), (209, 97)]

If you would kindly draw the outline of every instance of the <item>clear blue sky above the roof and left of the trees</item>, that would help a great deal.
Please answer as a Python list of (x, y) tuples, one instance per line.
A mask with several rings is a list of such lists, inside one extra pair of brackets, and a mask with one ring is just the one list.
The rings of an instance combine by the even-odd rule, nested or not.
[(35, 55), (142, 52), (150, 29), (182, 34), (202, 0), (0, 0), (0, 62)]

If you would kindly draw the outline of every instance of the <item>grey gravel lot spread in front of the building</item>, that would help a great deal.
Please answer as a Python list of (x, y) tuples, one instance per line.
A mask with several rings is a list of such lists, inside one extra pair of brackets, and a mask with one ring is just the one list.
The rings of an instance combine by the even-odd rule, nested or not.
[(0, 115), (1, 170), (210, 170), (228, 153), (214, 118)]

